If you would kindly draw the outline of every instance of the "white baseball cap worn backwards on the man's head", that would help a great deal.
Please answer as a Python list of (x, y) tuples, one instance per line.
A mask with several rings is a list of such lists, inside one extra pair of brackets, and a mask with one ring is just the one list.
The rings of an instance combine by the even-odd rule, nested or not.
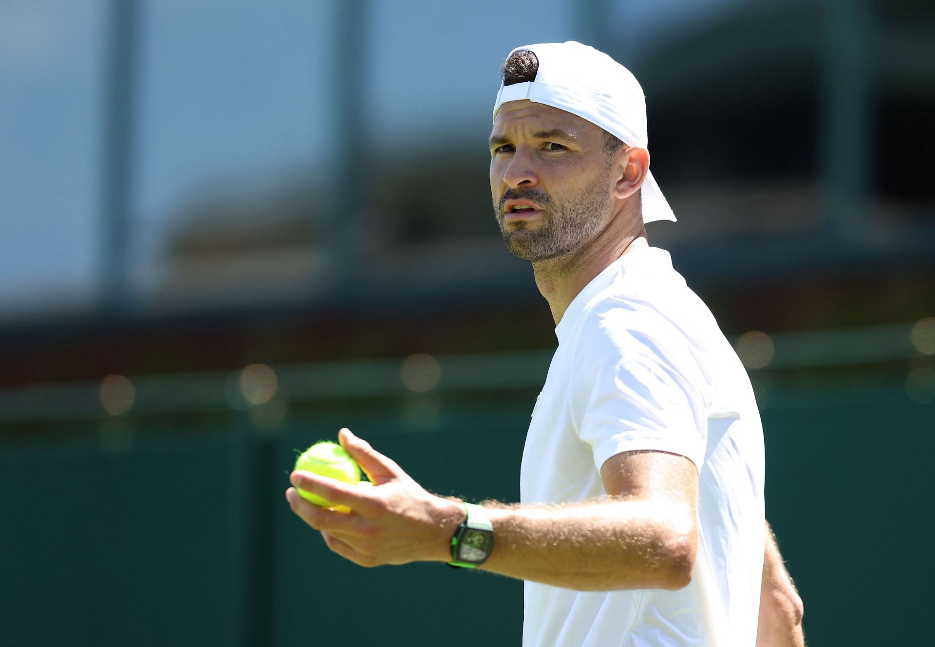
[[(603, 128), (630, 146), (645, 149), (646, 99), (640, 82), (610, 56), (573, 40), (564, 43), (525, 45), (512, 50), (530, 50), (539, 59), (536, 80), (513, 85), (500, 83), (496, 111), (508, 101), (528, 99), (578, 115)], [(666, 196), (646, 174), (642, 188), (643, 223), (675, 221)]]

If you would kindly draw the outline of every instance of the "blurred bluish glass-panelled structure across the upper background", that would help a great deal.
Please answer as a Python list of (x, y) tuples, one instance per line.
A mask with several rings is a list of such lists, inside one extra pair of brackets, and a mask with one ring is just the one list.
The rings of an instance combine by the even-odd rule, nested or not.
[[(868, 257), (930, 271), (935, 198), (913, 154), (932, 137), (930, 9), (551, 0), (506, 42), (499, 17), (521, 7), (6, 3), (7, 323), (456, 278), (496, 291), (521, 267), (484, 211), (496, 66), (514, 42), (571, 37), (643, 80), (681, 220), (650, 233), (687, 248), (690, 277)], [(64, 146), (65, 164), (13, 164)]]

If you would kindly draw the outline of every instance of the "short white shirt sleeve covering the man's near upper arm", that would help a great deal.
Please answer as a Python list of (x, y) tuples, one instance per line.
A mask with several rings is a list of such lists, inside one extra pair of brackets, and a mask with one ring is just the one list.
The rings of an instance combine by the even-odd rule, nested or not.
[(689, 342), (656, 316), (610, 307), (587, 313), (568, 396), (578, 437), (599, 470), (623, 452), (677, 453), (700, 470), (706, 389)]

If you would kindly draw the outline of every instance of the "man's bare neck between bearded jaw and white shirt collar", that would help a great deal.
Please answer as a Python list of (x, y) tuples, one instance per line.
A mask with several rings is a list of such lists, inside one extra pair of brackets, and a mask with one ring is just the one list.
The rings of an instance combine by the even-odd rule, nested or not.
[(533, 263), (536, 285), (549, 302), (555, 325), (562, 320), (568, 304), (602, 270), (627, 252), (649, 247), (641, 219), (639, 227), (631, 229), (621, 235), (609, 228), (581, 250)]

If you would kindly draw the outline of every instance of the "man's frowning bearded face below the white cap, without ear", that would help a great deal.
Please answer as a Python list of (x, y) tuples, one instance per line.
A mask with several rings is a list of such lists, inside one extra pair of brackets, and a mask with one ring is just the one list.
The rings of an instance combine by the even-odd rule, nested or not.
[(602, 131), (565, 110), (511, 101), (490, 137), (496, 222), (516, 256), (537, 262), (577, 252), (611, 218)]

